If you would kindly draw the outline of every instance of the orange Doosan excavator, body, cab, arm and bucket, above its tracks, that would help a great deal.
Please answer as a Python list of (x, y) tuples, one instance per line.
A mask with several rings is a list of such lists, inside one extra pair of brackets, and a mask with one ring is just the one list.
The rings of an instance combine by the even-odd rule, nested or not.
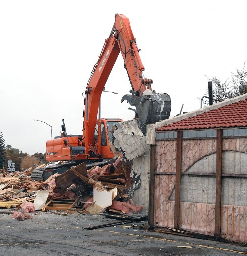
[(127, 100), (131, 106), (136, 107), (130, 109), (135, 111), (135, 118), (138, 118), (143, 126), (169, 118), (170, 97), (165, 93), (152, 91), (153, 81), (143, 74), (144, 66), (139, 51), (129, 19), (123, 14), (116, 14), (113, 29), (105, 40), (86, 86), (83, 134), (67, 135), (63, 120), (62, 135), (46, 142), (47, 161), (100, 161), (114, 157), (109, 141), (113, 139), (113, 130), (117, 123), (123, 120), (100, 117), (97, 119), (97, 114), (101, 93), (120, 52), (131, 85), (130, 94), (124, 95), (121, 102)]

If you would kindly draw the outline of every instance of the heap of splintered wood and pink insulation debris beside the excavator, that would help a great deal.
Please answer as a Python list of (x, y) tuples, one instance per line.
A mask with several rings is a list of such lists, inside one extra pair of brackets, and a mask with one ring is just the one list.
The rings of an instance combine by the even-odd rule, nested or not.
[(137, 213), (143, 207), (135, 206), (127, 195), (127, 171), (121, 160), (90, 169), (82, 163), (44, 182), (32, 180), (30, 169), (13, 173), (0, 169), (0, 209), (15, 208), (12, 218), (19, 221), (32, 218), (29, 214), (38, 210), (59, 214), (99, 214), (106, 210)]

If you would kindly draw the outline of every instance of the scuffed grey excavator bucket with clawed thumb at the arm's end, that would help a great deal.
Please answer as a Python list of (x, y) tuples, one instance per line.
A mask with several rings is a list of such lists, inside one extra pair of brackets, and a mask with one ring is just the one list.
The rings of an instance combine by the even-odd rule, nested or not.
[(135, 111), (141, 123), (152, 124), (170, 117), (171, 98), (168, 94), (156, 93), (153, 90), (150, 99), (141, 104), (142, 95), (135, 96), (132, 90), (130, 92), (132, 94), (125, 94), (122, 97), (121, 103), (126, 100), (131, 106), (135, 106), (136, 109), (129, 109)]

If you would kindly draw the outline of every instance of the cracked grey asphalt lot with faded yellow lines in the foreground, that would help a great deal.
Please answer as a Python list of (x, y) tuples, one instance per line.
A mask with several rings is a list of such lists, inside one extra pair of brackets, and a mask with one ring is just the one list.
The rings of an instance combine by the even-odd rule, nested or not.
[(147, 231), (147, 221), (85, 228), (116, 220), (104, 215), (33, 213), (17, 221), (0, 214), (0, 255), (246, 255), (247, 247)]

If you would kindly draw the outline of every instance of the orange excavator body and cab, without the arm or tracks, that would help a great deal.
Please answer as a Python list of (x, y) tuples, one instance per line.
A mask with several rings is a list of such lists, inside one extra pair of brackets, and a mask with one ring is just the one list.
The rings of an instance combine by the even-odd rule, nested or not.
[(116, 124), (122, 121), (120, 118), (101, 118), (97, 120), (93, 137), (94, 142), (89, 147), (85, 147), (82, 135), (67, 135), (63, 120), (63, 133), (46, 142), (46, 160), (82, 162), (113, 158), (114, 154), (110, 144)]

